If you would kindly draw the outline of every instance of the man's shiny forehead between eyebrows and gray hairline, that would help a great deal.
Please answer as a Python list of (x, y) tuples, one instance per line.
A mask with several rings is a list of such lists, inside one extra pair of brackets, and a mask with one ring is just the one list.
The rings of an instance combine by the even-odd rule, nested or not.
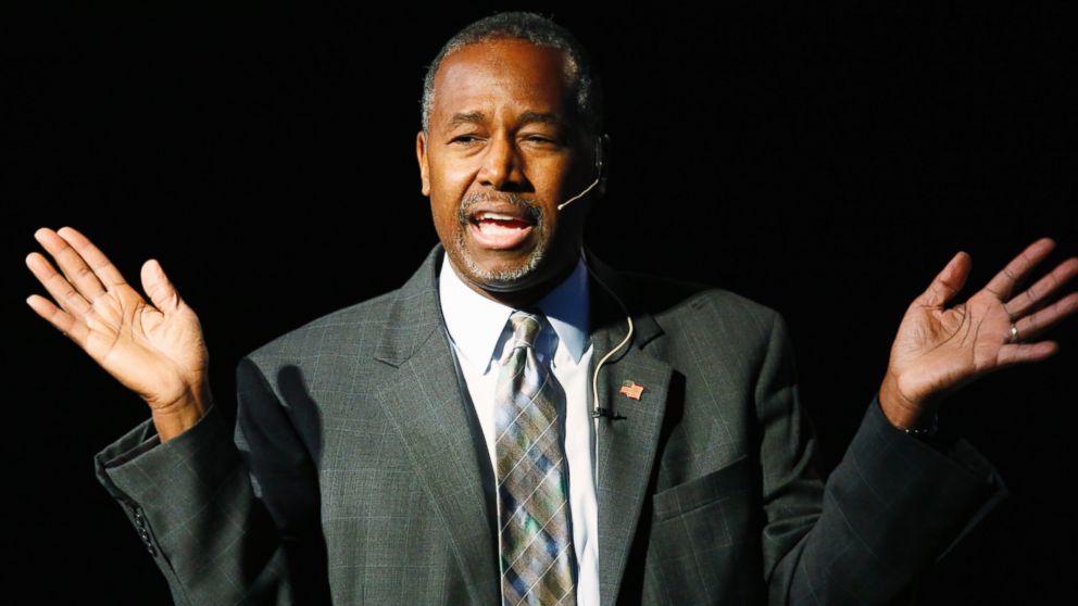
[(442, 60), (435, 75), (431, 121), (456, 112), (563, 113), (568, 91), (567, 59), (555, 48), (499, 39), (468, 45)]

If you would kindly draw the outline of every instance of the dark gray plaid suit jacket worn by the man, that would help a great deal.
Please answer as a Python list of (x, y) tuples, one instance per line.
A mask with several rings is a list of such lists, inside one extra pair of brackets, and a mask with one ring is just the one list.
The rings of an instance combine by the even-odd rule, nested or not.
[[(489, 459), (444, 330), (436, 244), (402, 288), (278, 337), (161, 444), (95, 457), (177, 604), (497, 604)], [(1004, 498), (964, 439), (891, 426), (878, 394), (816, 471), (791, 342), (730, 291), (587, 261), (632, 314), (600, 371), (602, 604), (882, 604)], [(600, 359), (624, 314), (592, 280)], [(618, 393), (626, 379), (639, 400)], [(911, 592), (911, 593), (906, 593)]]

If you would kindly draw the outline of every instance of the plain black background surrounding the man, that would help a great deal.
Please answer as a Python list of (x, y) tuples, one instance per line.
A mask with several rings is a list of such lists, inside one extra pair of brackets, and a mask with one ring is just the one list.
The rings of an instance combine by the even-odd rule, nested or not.
[[(958, 300), (1041, 236), (1058, 247), (1037, 277), (1078, 254), (1078, 54), (1063, 5), (9, 14), (5, 584), (41, 602), (168, 602), (92, 468), (146, 405), (23, 303), (46, 294), (24, 262), (42, 250), (37, 228), (83, 230), (131, 283), (160, 260), (201, 318), (217, 401), (234, 405), (242, 354), (411, 276), (437, 240), (414, 149), (425, 67), (494, 9), (539, 10), (591, 49), (605, 81), (613, 154), (590, 245), (615, 267), (780, 311), (829, 471), (906, 305), (955, 252), (974, 258)], [(932, 569), (924, 604), (1069, 592), (1076, 325), (1050, 334), (1054, 357), (944, 406), (941, 424), (1012, 496)]]

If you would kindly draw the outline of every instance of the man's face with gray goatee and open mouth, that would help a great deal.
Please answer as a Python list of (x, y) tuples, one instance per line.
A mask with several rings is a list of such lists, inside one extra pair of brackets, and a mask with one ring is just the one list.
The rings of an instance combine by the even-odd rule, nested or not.
[[(541, 288), (579, 254), (594, 175), (572, 112), (564, 54), (524, 40), (466, 46), (435, 76), (423, 193), (459, 274), (494, 291)], [(473, 287), (475, 288), (475, 287)]]

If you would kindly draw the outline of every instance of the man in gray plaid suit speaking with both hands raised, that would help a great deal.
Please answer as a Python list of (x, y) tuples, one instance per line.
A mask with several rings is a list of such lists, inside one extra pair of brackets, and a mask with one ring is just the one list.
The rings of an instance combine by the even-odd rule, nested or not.
[(28, 303), (150, 405), (96, 464), (177, 603), (885, 604), (1006, 495), (935, 412), (1055, 351), (1029, 341), (1078, 306), (1048, 305), (1078, 258), (1015, 292), (1039, 240), (947, 308), (955, 255), (825, 483), (778, 313), (582, 245), (610, 141), (572, 36), (494, 15), (426, 84), (439, 243), (400, 289), (245, 356), (235, 433), (161, 266), (147, 304), (78, 231), (37, 232), (64, 275), (27, 257), (60, 307)]

